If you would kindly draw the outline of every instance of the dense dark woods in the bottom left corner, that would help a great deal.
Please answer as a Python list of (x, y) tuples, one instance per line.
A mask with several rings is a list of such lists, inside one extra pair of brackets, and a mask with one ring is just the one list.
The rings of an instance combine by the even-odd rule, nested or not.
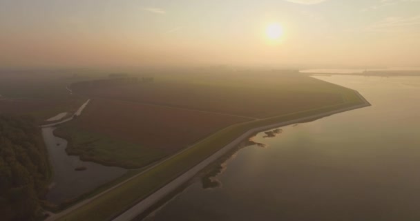
[(50, 173), (35, 119), (0, 115), (0, 219), (39, 220)]

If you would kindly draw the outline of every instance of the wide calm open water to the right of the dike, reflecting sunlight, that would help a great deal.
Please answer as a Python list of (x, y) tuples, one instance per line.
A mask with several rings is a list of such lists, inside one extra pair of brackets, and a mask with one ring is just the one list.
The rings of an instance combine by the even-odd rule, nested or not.
[(420, 220), (420, 77), (317, 77), (372, 106), (283, 127), (146, 220)]

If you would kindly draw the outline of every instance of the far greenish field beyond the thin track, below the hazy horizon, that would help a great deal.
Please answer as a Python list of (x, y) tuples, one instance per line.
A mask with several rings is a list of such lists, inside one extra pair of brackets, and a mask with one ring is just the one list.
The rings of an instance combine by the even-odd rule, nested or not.
[[(228, 75), (229, 76), (229, 75)], [(295, 74), (157, 77), (153, 83), (79, 82), (88, 97), (266, 118), (343, 102), (343, 88)]]

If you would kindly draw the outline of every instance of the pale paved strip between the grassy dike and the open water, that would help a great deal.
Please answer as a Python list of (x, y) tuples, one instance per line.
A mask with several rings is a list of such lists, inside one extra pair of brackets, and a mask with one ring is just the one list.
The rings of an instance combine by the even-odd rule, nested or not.
[(133, 220), (137, 216), (142, 215), (142, 213), (147, 211), (153, 205), (159, 203), (167, 195), (170, 195), (171, 193), (173, 193), (173, 191), (176, 191), (180, 186), (187, 183), (189, 180), (191, 180), (193, 177), (195, 177), (196, 174), (200, 173), (200, 171), (205, 169), (207, 166), (209, 166), (213, 162), (216, 162), (216, 160), (220, 159), (220, 157), (223, 157), (223, 155), (225, 155), (226, 153), (231, 151), (231, 149), (238, 146), (238, 144), (240, 144), (240, 142), (247, 139), (247, 137), (251, 136), (252, 134), (260, 133), (262, 131), (267, 131), (268, 129), (271, 129), (271, 128), (277, 128), (277, 127), (280, 127), (280, 126), (287, 126), (287, 125), (291, 125), (291, 124), (298, 124), (298, 123), (301, 123), (301, 122), (307, 122), (309, 120), (320, 119), (322, 117), (327, 117), (327, 116), (334, 115), (334, 114), (337, 114), (337, 113), (343, 113), (343, 112), (352, 111), (352, 110), (358, 109), (358, 108), (372, 106), (369, 102), (367, 102), (365, 97), (363, 97), (357, 90), (353, 90), (353, 91), (363, 101), (363, 104), (358, 104), (358, 105), (355, 105), (355, 106), (340, 108), (340, 109), (335, 110), (335, 111), (328, 111), (326, 113), (320, 113), (320, 114), (311, 115), (311, 116), (308, 116), (308, 117), (300, 117), (298, 119), (292, 119), (292, 120), (289, 120), (289, 121), (286, 121), (286, 122), (279, 122), (279, 123), (276, 123), (276, 124), (269, 124), (269, 125), (266, 125), (266, 126), (260, 126), (260, 127), (257, 127), (257, 128), (250, 129), (249, 131), (243, 133), (242, 135), (240, 135), (239, 137), (237, 137), (236, 139), (231, 141), (229, 144), (220, 148), (220, 150), (216, 151), (216, 153), (213, 153), (212, 155), (210, 155), (209, 157), (204, 159), (202, 162), (196, 164), (195, 166), (193, 166), (188, 171), (186, 171), (186, 172), (182, 173), (181, 175), (179, 175), (178, 177), (176, 177), (174, 180), (172, 180), (168, 184), (162, 186), (160, 189), (158, 189), (157, 191), (155, 191), (151, 195), (147, 196), (146, 198), (144, 198), (140, 202), (137, 202), (137, 204), (135, 204), (134, 206), (131, 206), (131, 208), (124, 211), (124, 213), (121, 213), (120, 215), (117, 215), (112, 220), (113, 221)]

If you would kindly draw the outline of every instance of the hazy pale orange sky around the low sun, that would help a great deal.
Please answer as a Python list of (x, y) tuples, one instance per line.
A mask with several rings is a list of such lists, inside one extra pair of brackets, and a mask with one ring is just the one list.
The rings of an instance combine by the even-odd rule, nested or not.
[(0, 67), (214, 65), (418, 67), (420, 0), (0, 0)]

